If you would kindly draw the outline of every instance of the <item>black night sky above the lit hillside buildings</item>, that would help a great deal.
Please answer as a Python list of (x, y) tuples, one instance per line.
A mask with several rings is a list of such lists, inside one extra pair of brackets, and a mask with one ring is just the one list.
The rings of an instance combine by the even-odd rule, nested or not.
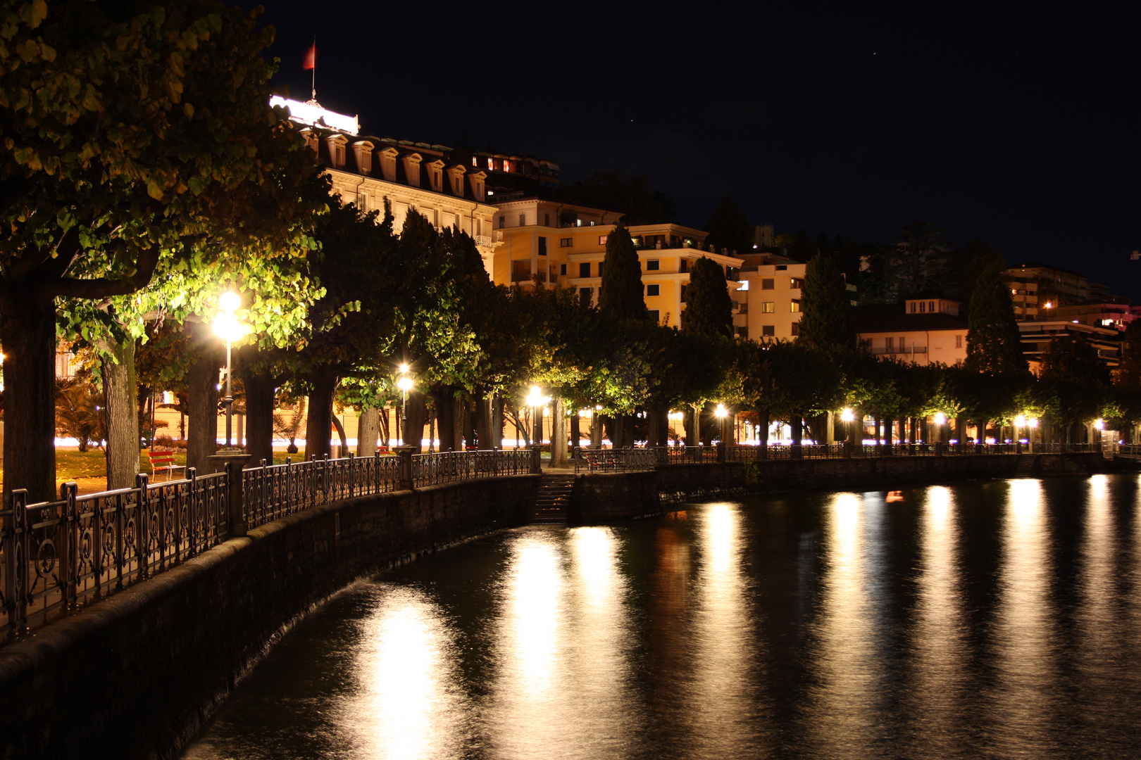
[[(648, 174), (702, 228), (955, 244), (1141, 299), (1133, 10), (266, 0), (278, 81), (371, 134)], [(1118, 5), (1118, 3), (1115, 3)], [(1119, 3), (1118, 8), (1127, 7)]]

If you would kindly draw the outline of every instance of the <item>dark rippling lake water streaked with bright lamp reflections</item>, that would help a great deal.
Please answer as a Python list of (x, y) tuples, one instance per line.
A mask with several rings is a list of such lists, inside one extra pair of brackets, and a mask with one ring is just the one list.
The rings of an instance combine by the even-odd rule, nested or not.
[(1141, 757), (1136, 475), (535, 526), (345, 593), (186, 758)]

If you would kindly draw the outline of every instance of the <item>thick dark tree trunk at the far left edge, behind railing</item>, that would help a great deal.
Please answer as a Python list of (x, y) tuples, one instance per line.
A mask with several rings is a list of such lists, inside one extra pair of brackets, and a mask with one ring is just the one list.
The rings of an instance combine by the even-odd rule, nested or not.
[[(0, 316), (3, 365), (3, 499), (27, 489), (30, 504), (56, 491), (56, 308), (31, 288), (6, 288)], [(44, 302), (46, 301), (46, 302)]]

